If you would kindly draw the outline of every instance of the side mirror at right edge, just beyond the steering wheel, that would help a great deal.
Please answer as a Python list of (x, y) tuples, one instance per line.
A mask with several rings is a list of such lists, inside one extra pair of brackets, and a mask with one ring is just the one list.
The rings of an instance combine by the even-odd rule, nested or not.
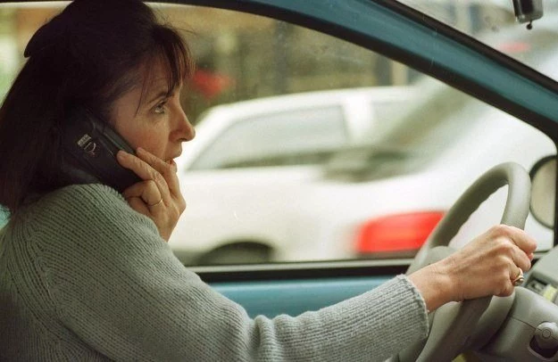
[(529, 172), (531, 177), (531, 213), (539, 223), (554, 227), (556, 208), (556, 156), (539, 160)]

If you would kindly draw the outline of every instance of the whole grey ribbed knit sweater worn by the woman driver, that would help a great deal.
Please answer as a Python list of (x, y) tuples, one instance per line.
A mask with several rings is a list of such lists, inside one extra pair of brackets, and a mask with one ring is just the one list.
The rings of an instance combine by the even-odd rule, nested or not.
[(298, 317), (251, 319), (104, 185), (49, 193), (0, 232), (3, 361), (371, 361), (427, 331), (404, 276)]

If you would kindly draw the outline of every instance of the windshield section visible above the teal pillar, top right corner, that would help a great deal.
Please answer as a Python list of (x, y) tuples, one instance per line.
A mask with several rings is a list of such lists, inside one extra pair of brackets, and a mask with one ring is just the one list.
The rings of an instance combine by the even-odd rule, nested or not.
[(528, 29), (527, 24), (516, 21), (512, 0), (398, 1), (558, 80), (553, 62), (540, 62), (539, 57), (549, 53), (558, 56), (558, 2), (544, 1), (543, 17)]

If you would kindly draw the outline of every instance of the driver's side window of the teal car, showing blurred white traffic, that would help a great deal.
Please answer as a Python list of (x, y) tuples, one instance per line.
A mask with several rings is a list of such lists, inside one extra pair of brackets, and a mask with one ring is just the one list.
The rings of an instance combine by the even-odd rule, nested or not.
[[(515, 46), (522, 37), (512, 22), (489, 31), (478, 18), (482, 3), (460, 4), (469, 11), (459, 19), (503, 50), (558, 62), (551, 48)], [(12, 65), (0, 65), (6, 78), (59, 9), (49, 6), (0, 7), (0, 46), (12, 49)], [(157, 11), (186, 30), (197, 62), (182, 99), (196, 138), (176, 160), (187, 210), (170, 241), (187, 265), (412, 256), (487, 169), (513, 161), (529, 170), (556, 153), (528, 123), (378, 49), (254, 14)], [(454, 243), (500, 221), (505, 191), (483, 203)], [(541, 250), (553, 244), (553, 230), (531, 216), (526, 230)]]

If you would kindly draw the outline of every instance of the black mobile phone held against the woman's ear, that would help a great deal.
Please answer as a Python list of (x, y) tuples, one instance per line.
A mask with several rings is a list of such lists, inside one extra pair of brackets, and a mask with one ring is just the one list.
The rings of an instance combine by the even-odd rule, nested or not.
[(135, 154), (132, 147), (107, 122), (83, 107), (71, 110), (62, 146), (62, 172), (72, 183), (101, 183), (121, 193), (141, 181), (116, 160), (120, 150)]

